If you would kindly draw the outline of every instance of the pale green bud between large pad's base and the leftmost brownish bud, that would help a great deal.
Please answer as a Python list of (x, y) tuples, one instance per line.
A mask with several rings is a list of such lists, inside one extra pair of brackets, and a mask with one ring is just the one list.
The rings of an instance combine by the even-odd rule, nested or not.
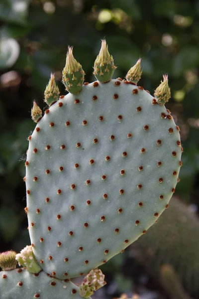
[(28, 272), (39, 273), (41, 271), (41, 267), (35, 260), (31, 245), (22, 249), (21, 252), (16, 255), (16, 260), (19, 266), (26, 267)]

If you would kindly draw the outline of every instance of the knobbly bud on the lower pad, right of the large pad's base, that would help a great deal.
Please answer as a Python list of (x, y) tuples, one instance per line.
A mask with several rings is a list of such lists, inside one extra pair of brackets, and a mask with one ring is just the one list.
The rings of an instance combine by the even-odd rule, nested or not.
[(89, 274), (83, 279), (82, 284), (79, 287), (80, 296), (83, 298), (88, 298), (106, 284), (104, 282), (104, 275), (101, 270), (94, 269), (89, 272)]

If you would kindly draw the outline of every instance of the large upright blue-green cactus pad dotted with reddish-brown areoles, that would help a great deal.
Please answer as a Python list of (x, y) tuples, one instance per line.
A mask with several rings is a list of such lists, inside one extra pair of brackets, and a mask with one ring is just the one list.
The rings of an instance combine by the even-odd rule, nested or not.
[(25, 164), (35, 258), (46, 273), (76, 277), (124, 250), (167, 208), (182, 165), (179, 128), (142, 87), (86, 83), (46, 110)]

